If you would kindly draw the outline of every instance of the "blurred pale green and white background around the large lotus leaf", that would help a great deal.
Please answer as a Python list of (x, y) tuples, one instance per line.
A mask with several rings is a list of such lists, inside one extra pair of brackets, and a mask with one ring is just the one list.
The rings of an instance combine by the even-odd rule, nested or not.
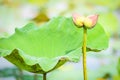
[[(0, 0), (0, 37), (28, 22), (41, 25), (53, 17), (99, 14), (110, 37), (109, 48), (87, 53), (88, 80), (120, 80), (120, 0)], [(99, 44), (98, 44), (99, 45)], [(67, 63), (48, 74), (47, 80), (83, 80), (82, 60)], [(42, 80), (0, 58), (0, 80)]]

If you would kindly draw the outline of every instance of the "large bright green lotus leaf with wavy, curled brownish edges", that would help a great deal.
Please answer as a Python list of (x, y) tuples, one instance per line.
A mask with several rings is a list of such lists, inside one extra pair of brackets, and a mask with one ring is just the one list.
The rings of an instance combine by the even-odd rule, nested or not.
[[(67, 61), (78, 62), (82, 54), (83, 30), (71, 18), (58, 17), (37, 27), (29, 23), (0, 39), (0, 56), (33, 73), (50, 72)], [(88, 30), (88, 51), (106, 49), (108, 38), (97, 24)]]

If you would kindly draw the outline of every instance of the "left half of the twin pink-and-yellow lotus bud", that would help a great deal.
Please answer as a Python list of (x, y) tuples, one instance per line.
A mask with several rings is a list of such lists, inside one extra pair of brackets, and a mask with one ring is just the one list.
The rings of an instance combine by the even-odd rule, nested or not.
[(73, 22), (75, 23), (75, 25), (77, 25), (78, 28), (83, 27), (84, 25), (84, 16), (80, 16), (79, 14), (73, 14), (72, 15), (73, 18)]

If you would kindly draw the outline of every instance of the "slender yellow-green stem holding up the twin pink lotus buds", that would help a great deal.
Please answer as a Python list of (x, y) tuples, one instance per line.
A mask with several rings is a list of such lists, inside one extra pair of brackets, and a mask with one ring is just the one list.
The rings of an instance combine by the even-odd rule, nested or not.
[(84, 74), (84, 80), (87, 80), (87, 68), (86, 68), (86, 42), (87, 42), (87, 29), (83, 28), (83, 74)]

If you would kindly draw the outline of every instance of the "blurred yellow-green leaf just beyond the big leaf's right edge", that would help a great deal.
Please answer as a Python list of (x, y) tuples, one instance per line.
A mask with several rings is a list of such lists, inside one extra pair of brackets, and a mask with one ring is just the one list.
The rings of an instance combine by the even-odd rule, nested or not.
[(99, 23), (104, 26), (108, 35), (114, 34), (118, 31), (118, 19), (113, 13), (100, 14)]

